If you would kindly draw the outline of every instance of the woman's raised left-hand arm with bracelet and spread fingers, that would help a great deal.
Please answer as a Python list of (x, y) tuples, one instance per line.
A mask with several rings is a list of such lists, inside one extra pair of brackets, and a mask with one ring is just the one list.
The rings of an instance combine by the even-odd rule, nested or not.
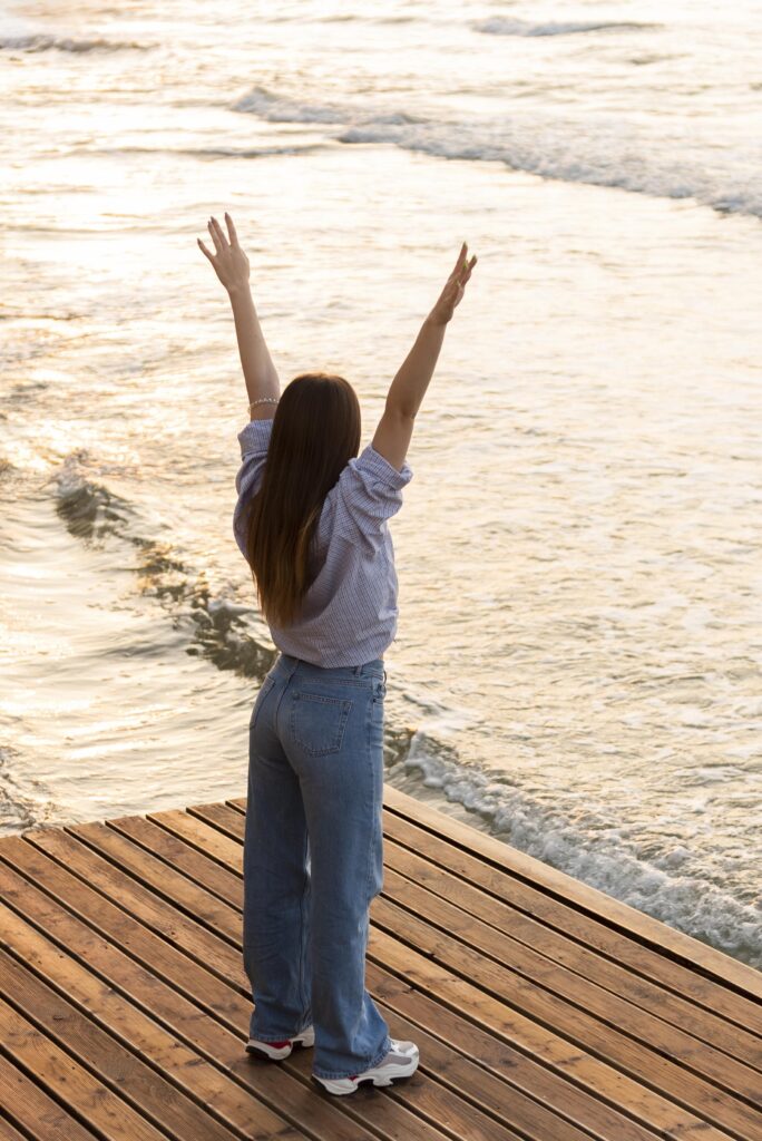
[[(281, 382), (275, 371), (273, 358), (270, 357), (254, 301), (249, 285), (249, 258), (243, 252), (238, 243), (233, 219), (225, 215), (228, 228), (226, 237), (222, 227), (216, 218), (210, 218), (206, 222), (216, 254), (212, 254), (201, 238), (196, 238), (202, 253), (211, 262), (214, 273), (227, 290), (230, 306), (233, 307), (233, 319), (235, 322), (235, 334), (238, 341), (238, 354), (246, 382), (249, 403), (260, 396), (281, 396)], [(229, 238), (229, 240), (228, 240)], [(274, 404), (258, 404), (251, 410), (252, 420), (266, 420), (275, 414)]]

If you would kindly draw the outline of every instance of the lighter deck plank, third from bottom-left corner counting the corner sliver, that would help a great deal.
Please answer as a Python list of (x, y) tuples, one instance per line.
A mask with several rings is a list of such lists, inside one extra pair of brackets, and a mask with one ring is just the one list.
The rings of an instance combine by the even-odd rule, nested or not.
[(106, 1141), (167, 1141), (167, 1135), (136, 1112), (122, 1098), (80, 1066), (65, 1050), (0, 998), (0, 1035), (3, 1050), (34, 1075), (54, 1097), (66, 1104)]

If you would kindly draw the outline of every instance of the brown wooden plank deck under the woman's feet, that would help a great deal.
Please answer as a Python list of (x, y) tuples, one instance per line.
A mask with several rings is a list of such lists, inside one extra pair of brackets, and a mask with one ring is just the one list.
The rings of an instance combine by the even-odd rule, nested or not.
[(0, 840), (2, 1139), (762, 1141), (762, 974), (388, 786), (366, 981), (419, 1071), (245, 1054), (244, 811)]

